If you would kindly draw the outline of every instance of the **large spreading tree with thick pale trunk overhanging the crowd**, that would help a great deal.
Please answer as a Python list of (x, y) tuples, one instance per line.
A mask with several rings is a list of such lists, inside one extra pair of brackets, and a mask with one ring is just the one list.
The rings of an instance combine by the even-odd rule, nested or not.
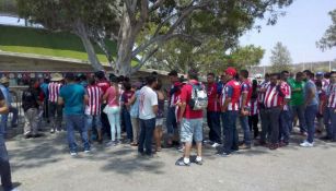
[[(22, 16), (50, 29), (78, 34), (95, 69), (101, 69), (90, 40), (104, 50), (116, 74), (139, 70), (171, 39), (201, 44), (206, 37), (222, 40), (223, 49), (236, 45), (256, 19), (270, 13), (274, 24), (278, 9), (292, 0), (18, 0)], [(117, 41), (116, 59), (104, 39)], [(131, 60), (138, 60), (131, 65)]]

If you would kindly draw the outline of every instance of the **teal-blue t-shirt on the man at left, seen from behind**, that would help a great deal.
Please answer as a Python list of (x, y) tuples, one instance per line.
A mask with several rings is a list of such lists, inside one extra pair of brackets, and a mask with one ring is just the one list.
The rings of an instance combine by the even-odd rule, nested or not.
[(65, 100), (65, 115), (84, 114), (84, 87), (79, 84), (65, 85), (60, 89), (60, 97)]

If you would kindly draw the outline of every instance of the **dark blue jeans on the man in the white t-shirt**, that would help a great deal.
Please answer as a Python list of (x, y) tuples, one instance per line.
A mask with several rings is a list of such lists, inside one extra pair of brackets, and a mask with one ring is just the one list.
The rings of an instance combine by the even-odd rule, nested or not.
[(153, 119), (140, 119), (140, 136), (138, 152), (143, 153), (143, 145), (146, 147), (146, 154), (152, 154), (152, 140), (155, 129), (155, 118)]

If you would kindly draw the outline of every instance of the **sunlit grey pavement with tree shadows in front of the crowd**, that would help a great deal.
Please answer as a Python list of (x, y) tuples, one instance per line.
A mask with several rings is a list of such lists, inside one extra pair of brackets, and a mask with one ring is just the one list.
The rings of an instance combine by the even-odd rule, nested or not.
[(181, 157), (166, 148), (154, 158), (128, 145), (94, 145), (92, 154), (71, 157), (65, 133), (7, 143), (13, 181), (21, 191), (335, 191), (336, 144), (318, 141), (313, 148), (297, 143), (269, 151), (253, 147), (218, 157), (206, 146), (205, 164), (177, 167)]

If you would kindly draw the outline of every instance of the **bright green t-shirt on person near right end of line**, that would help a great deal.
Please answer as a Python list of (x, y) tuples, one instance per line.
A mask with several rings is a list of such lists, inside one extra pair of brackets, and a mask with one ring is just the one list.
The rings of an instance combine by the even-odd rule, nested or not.
[(288, 84), (291, 88), (291, 106), (301, 106), (304, 104), (304, 82), (297, 82), (296, 80), (289, 80)]

